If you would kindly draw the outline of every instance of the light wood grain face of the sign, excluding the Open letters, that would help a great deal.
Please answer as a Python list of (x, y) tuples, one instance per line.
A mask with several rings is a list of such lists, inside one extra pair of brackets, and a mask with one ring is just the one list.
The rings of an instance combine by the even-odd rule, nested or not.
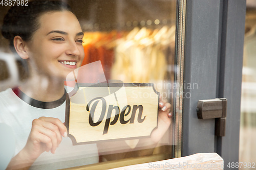
[[(158, 94), (156, 94), (152, 86), (122, 87), (112, 94), (110, 93), (110, 91), (113, 91), (111, 88), (115, 87), (82, 87), (79, 88), (77, 96), (75, 94), (70, 98), (69, 134), (74, 136), (77, 142), (145, 137), (150, 136), (152, 130), (157, 127)], [(105, 100), (106, 110), (102, 122), (98, 126), (91, 126), (89, 124), (90, 112), (87, 111), (87, 105), (96, 97), (102, 97)], [(99, 120), (102, 113), (102, 100), (97, 101), (99, 101), (99, 103), (95, 110), (93, 118), (94, 123)], [(93, 104), (94, 102), (90, 105), (90, 111)], [(106, 123), (110, 105), (118, 106), (120, 108), (119, 118), (114, 125)], [(131, 123), (131, 121), (126, 124), (120, 123), (120, 112), (127, 105), (131, 107), (131, 111), (126, 115), (129, 110), (126, 109), (124, 120), (126, 121), (131, 118), (134, 106), (141, 105), (143, 107), (143, 112), (140, 119), (145, 118), (142, 123), (138, 121), (139, 109), (137, 109), (135, 113), (133, 123)], [(115, 110), (112, 111), (110, 122), (113, 122), (114, 117)], [(105, 124), (109, 125), (109, 127), (106, 128), (108, 129), (108, 133), (103, 134)]]

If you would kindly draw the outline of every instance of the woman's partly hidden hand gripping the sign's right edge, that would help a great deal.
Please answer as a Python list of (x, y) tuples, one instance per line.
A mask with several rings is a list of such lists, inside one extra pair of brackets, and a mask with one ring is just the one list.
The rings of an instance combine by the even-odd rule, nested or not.
[(159, 111), (158, 111), (158, 127), (154, 129), (151, 134), (151, 140), (155, 143), (163, 137), (164, 133), (168, 130), (172, 113), (170, 113), (171, 105), (166, 100), (159, 98)]

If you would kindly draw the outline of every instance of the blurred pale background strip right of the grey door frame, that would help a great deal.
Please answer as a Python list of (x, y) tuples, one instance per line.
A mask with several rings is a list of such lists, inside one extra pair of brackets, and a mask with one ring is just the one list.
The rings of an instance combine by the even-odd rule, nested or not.
[[(256, 1), (247, 0), (239, 162), (256, 162)], [(244, 169), (244, 168), (240, 168)]]

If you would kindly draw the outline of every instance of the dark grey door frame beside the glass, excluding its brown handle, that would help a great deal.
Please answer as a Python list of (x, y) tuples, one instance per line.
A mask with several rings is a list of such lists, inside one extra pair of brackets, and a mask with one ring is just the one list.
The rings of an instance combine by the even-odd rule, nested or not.
[[(225, 166), (239, 162), (245, 12), (246, 0), (187, 0), (182, 156), (217, 152)], [(214, 135), (214, 119), (197, 118), (197, 102), (215, 98), (228, 100), (224, 137)]]

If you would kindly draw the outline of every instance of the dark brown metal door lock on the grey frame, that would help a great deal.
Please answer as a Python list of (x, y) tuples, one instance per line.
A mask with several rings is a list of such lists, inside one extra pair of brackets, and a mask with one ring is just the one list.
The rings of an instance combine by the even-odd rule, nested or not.
[(200, 100), (197, 103), (199, 119), (215, 118), (215, 135), (225, 136), (227, 99)]

